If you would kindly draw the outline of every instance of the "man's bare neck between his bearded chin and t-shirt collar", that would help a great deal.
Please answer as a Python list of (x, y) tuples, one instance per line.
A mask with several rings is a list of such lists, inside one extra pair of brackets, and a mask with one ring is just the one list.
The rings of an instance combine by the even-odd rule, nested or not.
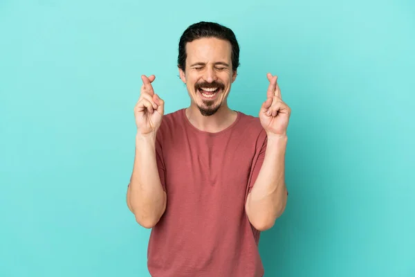
[(237, 112), (232, 111), (227, 105), (220, 107), (212, 116), (203, 116), (194, 105), (190, 105), (185, 111), (190, 123), (204, 132), (221, 132), (237, 119)]

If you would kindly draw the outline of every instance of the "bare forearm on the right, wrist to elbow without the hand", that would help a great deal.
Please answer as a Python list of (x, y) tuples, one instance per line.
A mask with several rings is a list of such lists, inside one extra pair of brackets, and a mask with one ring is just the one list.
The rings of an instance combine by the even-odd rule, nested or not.
[(284, 212), (286, 136), (268, 136), (268, 143), (257, 180), (246, 201), (246, 212), (259, 230), (270, 229)]

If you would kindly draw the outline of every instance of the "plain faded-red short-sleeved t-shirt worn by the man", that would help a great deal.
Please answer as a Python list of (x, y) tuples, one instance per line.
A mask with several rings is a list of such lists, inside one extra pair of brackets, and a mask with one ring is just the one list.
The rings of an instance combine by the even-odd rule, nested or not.
[(154, 277), (260, 277), (259, 231), (245, 202), (266, 150), (259, 118), (238, 112), (221, 132), (196, 129), (185, 109), (163, 116), (156, 157), (167, 207), (151, 230)]

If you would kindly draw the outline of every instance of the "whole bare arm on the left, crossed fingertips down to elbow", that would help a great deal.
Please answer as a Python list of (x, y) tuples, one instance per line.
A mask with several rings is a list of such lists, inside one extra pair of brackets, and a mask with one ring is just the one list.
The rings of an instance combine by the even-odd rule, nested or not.
[[(166, 209), (167, 195), (158, 175), (156, 134), (164, 114), (164, 101), (154, 93), (155, 75), (141, 76), (140, 98), (134, 107), (136, 157), (127, 190), (127, 205), (138, 224), (153, 228)], [(164, 180), (164, 178), (163, 178)]]

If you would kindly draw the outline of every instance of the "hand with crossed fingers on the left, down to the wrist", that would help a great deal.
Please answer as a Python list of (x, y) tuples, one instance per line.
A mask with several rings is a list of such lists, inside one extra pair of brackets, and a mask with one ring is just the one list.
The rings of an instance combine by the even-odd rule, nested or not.
[(136, 117), (137, 134), (146, 136), (148, 134), (156, 134), (160, 127), (161, 119), (164, 114), (164, 101), (154, 93), (151, 82), (156, 76), (142, 75), (142, 87), (140, 98), (134, 107), (134, 116)]

